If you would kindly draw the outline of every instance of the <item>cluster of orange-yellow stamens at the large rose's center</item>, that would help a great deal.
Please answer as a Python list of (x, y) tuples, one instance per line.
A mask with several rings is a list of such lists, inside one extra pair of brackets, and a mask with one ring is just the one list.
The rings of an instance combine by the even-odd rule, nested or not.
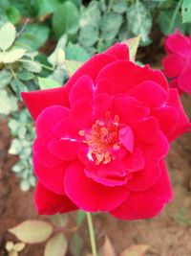
[(95, 161), (96, 165), (108, 164), (115, 159), (114, 151), (120, 148), (118, 140), (119, 117), (111, 118), (106, 112), (104, 120), (96, 120), (90, 131), (79, 130), (79, 135), (84, 136), (84, 143), (88, 144), (88, 158)]

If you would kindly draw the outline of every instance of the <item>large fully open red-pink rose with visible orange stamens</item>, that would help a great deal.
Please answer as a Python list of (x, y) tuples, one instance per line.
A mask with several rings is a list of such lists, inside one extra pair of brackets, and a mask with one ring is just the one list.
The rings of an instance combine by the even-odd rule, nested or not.
[(169, 142), (191, 126), (177, 89), (128, 58), (117, 43), (66, 86), (22, 93), (36, 126), (39, 214), (80, 208), (145, 219), (172, 199), (164, 158)]

